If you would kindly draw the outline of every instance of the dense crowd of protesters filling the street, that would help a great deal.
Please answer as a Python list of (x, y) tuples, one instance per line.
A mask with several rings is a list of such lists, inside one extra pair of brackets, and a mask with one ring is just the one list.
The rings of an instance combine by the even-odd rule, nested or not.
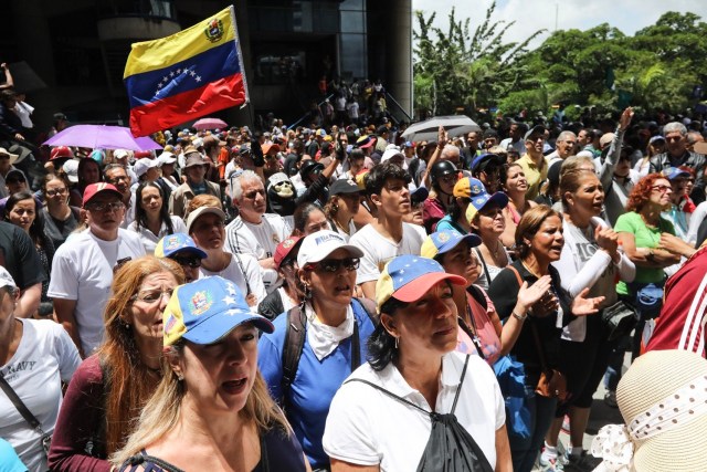
[(0, 470), (592, 470), (626, 352), (705, 370), (707, 127), (633, 115), (0, 147)]

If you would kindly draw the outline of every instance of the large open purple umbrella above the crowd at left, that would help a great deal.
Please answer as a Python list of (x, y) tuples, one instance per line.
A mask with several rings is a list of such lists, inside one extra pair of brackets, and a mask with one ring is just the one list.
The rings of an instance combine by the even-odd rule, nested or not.
[(130, 128), (106, 125), (74, 125), (52, 136), (48, 146), (77, 146), (91, 149), (161, 149), (149, 137), (134, 138)]

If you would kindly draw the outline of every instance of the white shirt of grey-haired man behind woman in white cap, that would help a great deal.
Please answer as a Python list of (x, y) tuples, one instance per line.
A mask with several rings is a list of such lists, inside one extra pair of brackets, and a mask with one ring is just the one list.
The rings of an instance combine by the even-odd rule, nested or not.
[[(249, 254), (260, 261), (272, 258), (277, 244), (286, 240), (291, 232), (289, 224), (279, 214), (265, 213), (260, 223), (250, 223), (238, 217), (225, 229), (223, 250), (234, 254)], [(261, 268), (261, 272), (270, 293), (277, 286), (277, 271)]]

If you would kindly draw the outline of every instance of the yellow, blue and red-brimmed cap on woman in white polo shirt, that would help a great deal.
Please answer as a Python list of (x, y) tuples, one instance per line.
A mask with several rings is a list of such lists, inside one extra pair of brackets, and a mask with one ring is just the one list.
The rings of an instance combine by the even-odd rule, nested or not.
[(420, 300), (430, 289), (443, 280), (454, 285), (466, 285), (466, 279), (447, 274), (437, 261), (421, 255), (399, 255), (392, 259), (376, 283), (376, 305), (381, 306), (394, 296), (410, 303)]

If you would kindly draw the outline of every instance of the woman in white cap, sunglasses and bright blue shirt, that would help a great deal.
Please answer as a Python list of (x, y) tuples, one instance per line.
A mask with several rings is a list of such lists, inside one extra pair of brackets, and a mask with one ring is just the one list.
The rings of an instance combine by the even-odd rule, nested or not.
[[(258, 365), (313, 469), (329, 469), (321, 436), (329, 403), (341, 382), (366, 359), (373, 332), (372, 302), (354, 298), (363, 252), (323, 230), (304, 238), (297, 254), (304, 302), (274, 321), (258, 344)], [(367, 306), (370, 302), (370, 306)], [(299, 342), (293, 343), (300, 333)], [(295, 361), (284, 361), (294, 355)]]

